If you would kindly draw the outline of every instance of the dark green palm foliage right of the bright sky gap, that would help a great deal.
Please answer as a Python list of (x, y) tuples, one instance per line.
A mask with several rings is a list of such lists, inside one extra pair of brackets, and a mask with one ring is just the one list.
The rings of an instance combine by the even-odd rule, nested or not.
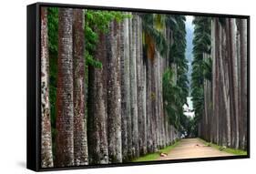
[(210, 17), (196, 16), (193, 20), (195, 25), (193, 38), (193, 62), (191, 96), (195, 110), (195, 122), (198, 124), (204, 110), (204, 79), (211, 80), (211, 58), (204, 59), (204, 54), (210, 54)]

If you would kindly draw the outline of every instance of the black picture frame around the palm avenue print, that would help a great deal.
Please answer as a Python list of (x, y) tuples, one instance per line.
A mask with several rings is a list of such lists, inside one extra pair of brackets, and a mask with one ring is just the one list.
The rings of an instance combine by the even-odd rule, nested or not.
[[(210, 157), (199, 159), (172, 159), (161, 161), (147, 161), (147, 162), (128, 162), (120, 164), (105, 164), (105, 165), (88, 165), (88, 166), (74, 166), (63, 168), (46, 168), (40, 167), (40, 128), (41, 128), (41, 91), (40, 91), (40, 7), (41, 6), (56, 6), (56, 7), (70, 7), (70, 8), (87, 8), (95, 10), (113, 10), (113, 11), (127, 11), (127, 12), (143, 12), (155, 14), (171, 14), (171, 15), (198, 15), (198, 16), (217, 16), (217, 17), (231, 17), (247, 19), (247, 74), (248, 74), (248, 122), (247, 122), (247, 155), (238, 155), (231, 157)], [(179, 162), (193, 162), (193, 161), (207, 161), (207, 160), (223, 160), (223, 159), (248, 159), (250, 158), (250, 15), (228, 15), (228, 14), (211, 14), (198, 12), (181, 12), (168, 11), (157, 9), (140, 9), (140, 8), (126, 8), (126, 7), (112, 7), (112, 6), (95, 6), (95, 5), (68, 5), (55, 3), (36, 3), (27, 5), (26, 8), (26, 26), (27, 26), (27, 82), (26, 82), (26, 168), (35, 171), (50, 171), (63, 169), (92, 169), (92, 168), (109, 168), (122, 166), (138, 166), (151, 164), (165, 164), (165, 163), (179, 163)]]

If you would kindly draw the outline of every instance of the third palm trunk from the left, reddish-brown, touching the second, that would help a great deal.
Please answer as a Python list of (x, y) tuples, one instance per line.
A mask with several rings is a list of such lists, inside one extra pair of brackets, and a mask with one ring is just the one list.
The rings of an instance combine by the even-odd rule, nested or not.
[(85, 15), (74, 9), (74, 159), (75, 165), (87, 165), (87, 119), (85, 80)]

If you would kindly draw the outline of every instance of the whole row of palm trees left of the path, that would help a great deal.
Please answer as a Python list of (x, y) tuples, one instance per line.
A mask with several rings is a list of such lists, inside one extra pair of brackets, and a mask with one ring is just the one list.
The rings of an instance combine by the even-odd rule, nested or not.
[(183, 15), (42, 8), (41, 166), (126, 162), (175, 142), (185, 35)]

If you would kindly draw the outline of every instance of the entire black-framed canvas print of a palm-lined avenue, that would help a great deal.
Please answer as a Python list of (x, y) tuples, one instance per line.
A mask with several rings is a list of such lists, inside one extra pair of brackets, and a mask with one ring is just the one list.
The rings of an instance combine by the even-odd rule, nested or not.
[(27, 169), (250, 158), (250, 16), (27, 5)]

